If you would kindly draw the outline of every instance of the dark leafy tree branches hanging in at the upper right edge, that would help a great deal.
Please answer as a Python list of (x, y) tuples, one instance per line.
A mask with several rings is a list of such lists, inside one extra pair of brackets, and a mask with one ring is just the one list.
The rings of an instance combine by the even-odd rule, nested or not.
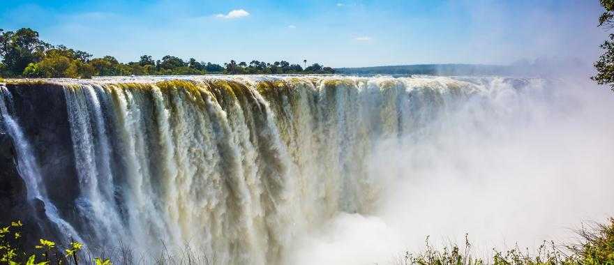
[[(606, 10), (599, 17), (599, 27), (611, 29), (614, 27), (614, 0), (601, 0), (601, 6)], [(609, 84), (614, 91), (614, 34), (610, 34), (610, 39), (605, 40), (600, 45), (604, 54), (599, 56), (599, 60), (594, 63), (597, 75), (591, 77), (597, 84)]]

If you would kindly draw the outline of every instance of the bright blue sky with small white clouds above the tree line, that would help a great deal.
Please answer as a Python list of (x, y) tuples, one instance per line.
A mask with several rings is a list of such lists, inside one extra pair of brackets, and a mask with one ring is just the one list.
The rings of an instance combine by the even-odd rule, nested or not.
[(597, 28), (597, 0), (0, 2), (2, 29), (31, 27), (50, 43), (120, 61), (590, 62), (607, 35)]

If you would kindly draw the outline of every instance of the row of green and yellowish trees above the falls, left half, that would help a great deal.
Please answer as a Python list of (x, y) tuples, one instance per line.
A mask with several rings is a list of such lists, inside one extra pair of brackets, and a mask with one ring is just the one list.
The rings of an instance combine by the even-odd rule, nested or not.
[[(253, 60), (250, 63), (231, 60), (220, 66), (217, 63), (187, 61), (176, 56), (164, 56), (154, 60), (143, 55), (139, 61), (121, 63), (113, 56), (92, 58), (92, 54), (73, 50), (64, 45), (51, 45), (40, 40), (38, 32), (29, 28), (17, 31), (0, 29), (0, 77), (70, 77), (117, 75), (204, 75), (218, 74), (331, 74), (334, 69), (320, 63), (306, 68), (287, 61), (267, 63)], [(307, 61), (304, 61), (306, 64)]]

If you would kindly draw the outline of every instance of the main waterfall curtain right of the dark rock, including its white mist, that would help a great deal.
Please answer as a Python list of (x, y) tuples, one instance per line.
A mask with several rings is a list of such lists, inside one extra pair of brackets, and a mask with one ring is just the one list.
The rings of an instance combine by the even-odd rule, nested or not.
[(169, 78), (65, 88), (91, 245), (385, 264), (427, 234), (531, 244), (614, 212), (612, 100), (594, 91), (502, 77), (159, 83)]

